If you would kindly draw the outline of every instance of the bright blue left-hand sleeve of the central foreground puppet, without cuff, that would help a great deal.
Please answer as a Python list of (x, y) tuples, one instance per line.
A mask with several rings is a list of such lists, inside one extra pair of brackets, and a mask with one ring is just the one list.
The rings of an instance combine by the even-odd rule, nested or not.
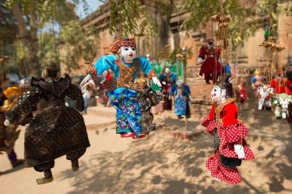
[(108, 70), (108, 69), (114, 70), (113, 66), (114, 66), (114, 61), (116, 59), (117, 59), (117, 56), (115, 56), (115, 55), (102, 56), (93, 65), (92, 70), (96, 72), (96, 75), (100, 75), (105, 70)]

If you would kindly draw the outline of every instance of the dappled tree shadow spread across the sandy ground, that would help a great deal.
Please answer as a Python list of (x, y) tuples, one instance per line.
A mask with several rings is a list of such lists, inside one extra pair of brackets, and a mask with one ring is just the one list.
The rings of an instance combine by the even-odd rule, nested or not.
[[(80, 164), (80, 171), (66, 170), (56, 180), (73, 178), (68, 194), (265, 194), (292, 192), (292, 134), (287, 121), (273, 113), (244, 110), (241, 121), (250, 130), (248, 146), (256, 159), (244, 162), (243, 183), (230, 185), (209, 176), (205, 167), (213, 154), (213, 137), (204, 133), (193, 141), (177, 140), (159, 129), (133, 141), (125, 152), (103, 152)], [(184, 122), (166, 118), (172, 127)], [(196, 127), (200, 121), (191, 121)], [(286, 129), (288, 127), (288, 129)]]

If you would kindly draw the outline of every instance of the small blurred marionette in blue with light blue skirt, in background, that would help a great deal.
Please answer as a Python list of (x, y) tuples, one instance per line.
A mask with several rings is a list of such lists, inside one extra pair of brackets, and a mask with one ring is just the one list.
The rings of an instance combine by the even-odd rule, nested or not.
[(189, 86), (184, 85), (183, 81), (179, 78), (176, 81), (176, 85), (171, 87), (170, 95), (175, 97), (174, 113), (178, 115), (178, 118), (182, 119), (184, 116), (190, 118), (191, 91)]

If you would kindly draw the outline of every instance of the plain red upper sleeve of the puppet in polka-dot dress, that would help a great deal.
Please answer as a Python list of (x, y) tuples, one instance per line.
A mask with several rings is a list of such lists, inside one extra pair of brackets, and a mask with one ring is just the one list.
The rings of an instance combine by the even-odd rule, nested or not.
[(237, 107), (234, 103), (230, 103), (224, 107), (224, 116), (222, 118), (225, 127), (237, 124)]

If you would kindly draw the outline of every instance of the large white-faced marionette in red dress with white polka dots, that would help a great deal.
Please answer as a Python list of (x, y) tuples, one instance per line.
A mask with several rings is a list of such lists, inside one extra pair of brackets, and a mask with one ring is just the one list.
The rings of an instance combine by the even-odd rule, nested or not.
[(213, 87), (211, 98), (214, 103), (201, 125), (214, 136), (215, 153), (206, 163), (211, 177), (237, 184), (242, 180), (236, 166), (241, 165), (241, 160), (252, 160), (255, 157), (244, 139), (248, 129), (237, 120), (238, 112), (234, 99), (226, 99), (227, 81)]

